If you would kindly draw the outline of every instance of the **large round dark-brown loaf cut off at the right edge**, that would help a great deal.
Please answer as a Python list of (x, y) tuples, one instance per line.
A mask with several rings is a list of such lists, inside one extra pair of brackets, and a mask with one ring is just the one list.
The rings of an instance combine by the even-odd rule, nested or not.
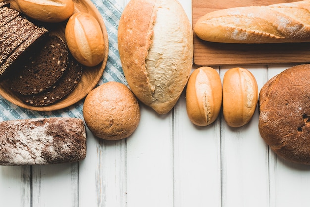
[(310, 64), (271, 78), (259, 93), (259, 131), (283, 159), (310, 164)]

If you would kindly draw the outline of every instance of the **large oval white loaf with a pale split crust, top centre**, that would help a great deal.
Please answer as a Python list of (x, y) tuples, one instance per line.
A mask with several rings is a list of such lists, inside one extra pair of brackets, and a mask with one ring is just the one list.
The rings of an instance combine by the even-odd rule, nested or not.
[(118, 48), (136, 97), (159, 114), (178, 101), (190, 76), (193, 31), (177, 0), (131, 0), (118, 27)]

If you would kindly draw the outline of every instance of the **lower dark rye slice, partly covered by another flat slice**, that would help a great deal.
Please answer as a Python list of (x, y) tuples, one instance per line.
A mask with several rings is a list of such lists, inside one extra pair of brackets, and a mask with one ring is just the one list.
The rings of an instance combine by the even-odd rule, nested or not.
[(34, 95), (20, 95), (20, 99), (32, 106), (46, 106), (66, 97), (79, 83), (83, 71), (83, 65), (69, 55), (67, 71), (55, 85), (49, 89)]

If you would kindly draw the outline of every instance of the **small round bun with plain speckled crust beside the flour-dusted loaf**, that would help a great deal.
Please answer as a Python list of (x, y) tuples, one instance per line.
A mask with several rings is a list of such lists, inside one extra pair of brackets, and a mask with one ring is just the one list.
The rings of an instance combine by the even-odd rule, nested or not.
[(138, 127), (140, 107), (128, 87), (119, 82), (108, 82), (89, 92), (83, 115), (95, 136), (119, 140), (129, 137)]

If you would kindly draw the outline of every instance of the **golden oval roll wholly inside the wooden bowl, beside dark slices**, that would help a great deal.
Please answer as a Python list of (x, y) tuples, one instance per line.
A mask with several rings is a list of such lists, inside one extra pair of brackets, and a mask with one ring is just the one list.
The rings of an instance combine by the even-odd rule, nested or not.
[(75, 13), (65, 28), (68, 48), (73, 57), (85, 66), (96, 66), (103, 61), (105, 43), (101, 27), (88, 13)]

